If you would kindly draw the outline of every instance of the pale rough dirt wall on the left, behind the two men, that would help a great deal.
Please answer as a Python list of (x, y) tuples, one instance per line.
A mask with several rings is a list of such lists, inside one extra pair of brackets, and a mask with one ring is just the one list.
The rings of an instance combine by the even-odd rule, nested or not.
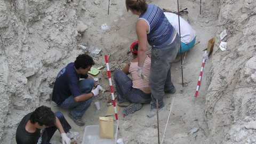
[(78, 31), (76, 11), (65, 1), (0, 1), (0, 5), (0, 141), (11, 138), (15, 143), (22, 115), (50, 99), (61, 61), (81, 53), (74, 47), (83, 31)]

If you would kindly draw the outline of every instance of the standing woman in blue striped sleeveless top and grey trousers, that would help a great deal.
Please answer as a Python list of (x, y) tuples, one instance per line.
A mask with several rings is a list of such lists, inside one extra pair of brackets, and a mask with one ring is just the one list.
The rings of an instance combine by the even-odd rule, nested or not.
[(139, 41), (138, 76), (143, 74), (143, 64), (147, 57), (147, 42), (152, 46), (149, 88), (151, 91), (151, 108), (148, 117), (156, 115), (164, 107), (164, 92), (174, 93), (171, 79), (171, 66), (179, 47), (180, 38), (177, 31), (165, 17), (163, 11), (145, 0), (125, 0), (127, 11), (139, 15), (136, 22), (136, 33)]

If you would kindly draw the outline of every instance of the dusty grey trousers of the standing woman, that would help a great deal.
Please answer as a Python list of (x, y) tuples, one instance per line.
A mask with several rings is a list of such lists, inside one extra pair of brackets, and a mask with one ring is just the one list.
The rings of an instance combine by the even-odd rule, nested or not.
[(164, 107), (164, 92), (174, 88), (171, 77), (171, 66), (180, 48), (180, 37), (177, 33), (174, 41), (162, 49), (152, 48), (149, 89), (151, 91), (151, 108)]

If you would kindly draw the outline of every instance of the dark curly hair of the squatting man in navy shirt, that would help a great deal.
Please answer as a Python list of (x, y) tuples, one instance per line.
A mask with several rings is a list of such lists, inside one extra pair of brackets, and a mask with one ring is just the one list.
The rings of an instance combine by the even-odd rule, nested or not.
[(88, 54), (80, 54), (76, 58), (74, 64), (76, 69), (79, 69), (79, 68), (86, 69), (89, 66), (93, 66), (94, 61), (92, 57), (90, 57)]

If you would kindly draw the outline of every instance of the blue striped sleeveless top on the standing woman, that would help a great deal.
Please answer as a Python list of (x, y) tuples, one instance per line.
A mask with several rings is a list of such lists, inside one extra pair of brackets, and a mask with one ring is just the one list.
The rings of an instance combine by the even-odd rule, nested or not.
[(158, 6), (148, 4), (147, 11), (140, 14), (139, 19), (148, 23), (147, 39), (149, 45), (161, 49), (171, 43), (175, 29)]

